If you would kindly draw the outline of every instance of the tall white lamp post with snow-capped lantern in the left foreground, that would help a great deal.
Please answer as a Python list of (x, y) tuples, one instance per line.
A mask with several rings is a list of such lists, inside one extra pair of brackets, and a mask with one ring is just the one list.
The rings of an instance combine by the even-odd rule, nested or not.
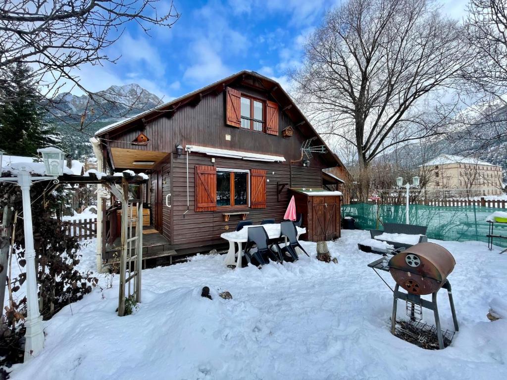
[[(23, 227), (25, 235), (26, 260), (26, 321), (25, 321), (25, 362), (32, 356), (38, 355), (44, 348), (44, 331), (42, 329), (42, 315), (39, 310), (37, 297), (37, 273), (35, 272), (35, 249), (33, 248), (33, 225), (31, 216), (30, 186), (33, 182), (52, 180), (58, 183), (58, 175), (63, 173), (63, 158), (65, 154), (57, 148), (39, 149), (43, 154), (47, 176), (32, 177), (25, 167), (22, 167), (17, 177), (0, 178), (1, 182), (16, 182), (21, 187), (23, 201)], [(3, 152), (0, 152), (0, 168)], [(0, 177), (2, 170), (0, 169)]]

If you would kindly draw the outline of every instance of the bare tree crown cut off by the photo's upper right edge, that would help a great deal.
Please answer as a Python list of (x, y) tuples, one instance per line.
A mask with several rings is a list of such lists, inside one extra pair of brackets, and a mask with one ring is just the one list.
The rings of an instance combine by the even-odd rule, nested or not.
[(466, 138), (483, 150), (507, 138), (507, 1), (471, 0), (465, 20), (467, 44), (477, 59), (463, 67), (467, 95), (478, 103), (458, 113), (455, 139)]

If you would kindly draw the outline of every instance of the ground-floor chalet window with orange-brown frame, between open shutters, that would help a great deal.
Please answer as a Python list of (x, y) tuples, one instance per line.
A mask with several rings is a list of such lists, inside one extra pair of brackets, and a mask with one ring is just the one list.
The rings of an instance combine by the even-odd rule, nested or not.
[(248, 206), (247, 171), (216, 171), (216, 206)]

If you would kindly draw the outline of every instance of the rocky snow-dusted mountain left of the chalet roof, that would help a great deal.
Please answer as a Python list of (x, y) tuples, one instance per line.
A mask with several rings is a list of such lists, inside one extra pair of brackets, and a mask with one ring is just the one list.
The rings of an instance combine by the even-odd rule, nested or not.
[[(63, 148), (76, 159), (91, 157), (89, 138), (105, 125), (156, 107), (161, 99), (137, 84), (111, 86), (87, 95), (62, 93), (53, 99), (48, 120), (62, 134)], [(83, 127), (81, 128), (82, 117)]]

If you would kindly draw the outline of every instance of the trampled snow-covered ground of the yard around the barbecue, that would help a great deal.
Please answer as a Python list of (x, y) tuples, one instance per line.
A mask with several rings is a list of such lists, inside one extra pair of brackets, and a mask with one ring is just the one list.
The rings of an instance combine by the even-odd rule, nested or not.
[[(338, 264), (312, 257), (231, 270), (225, 256), (143, 271), (142, 303), (118, 317), (118, 276), (44, 322), (44, 352), (13, 367), (18, 380), (58, 379), (500, 379), (507, 378), (507, 320), (486, 318), (507, 294), (507, 254), (480, 242), (440, 242), (456, 258), (449, 280), (460, 331), (427, 351), (389, 332), (392, 293), (360, 252), (367, 231), (328, 243)], [(94, 268), (94, 246), (81, 269)], [(388, 273), (382, 274), (393, 284)], [(100, 285), (105, 288), (106, 276)], [(213, 300), (202, 298), (207, 285)], [(233, 299), (217, 292), (228, 290)], [(439, 294), (452, 328), (447, 294)], [(399, 318), (405, 315), (400, 302)], [(433, 322), (429, 311), (423, 312)]]

